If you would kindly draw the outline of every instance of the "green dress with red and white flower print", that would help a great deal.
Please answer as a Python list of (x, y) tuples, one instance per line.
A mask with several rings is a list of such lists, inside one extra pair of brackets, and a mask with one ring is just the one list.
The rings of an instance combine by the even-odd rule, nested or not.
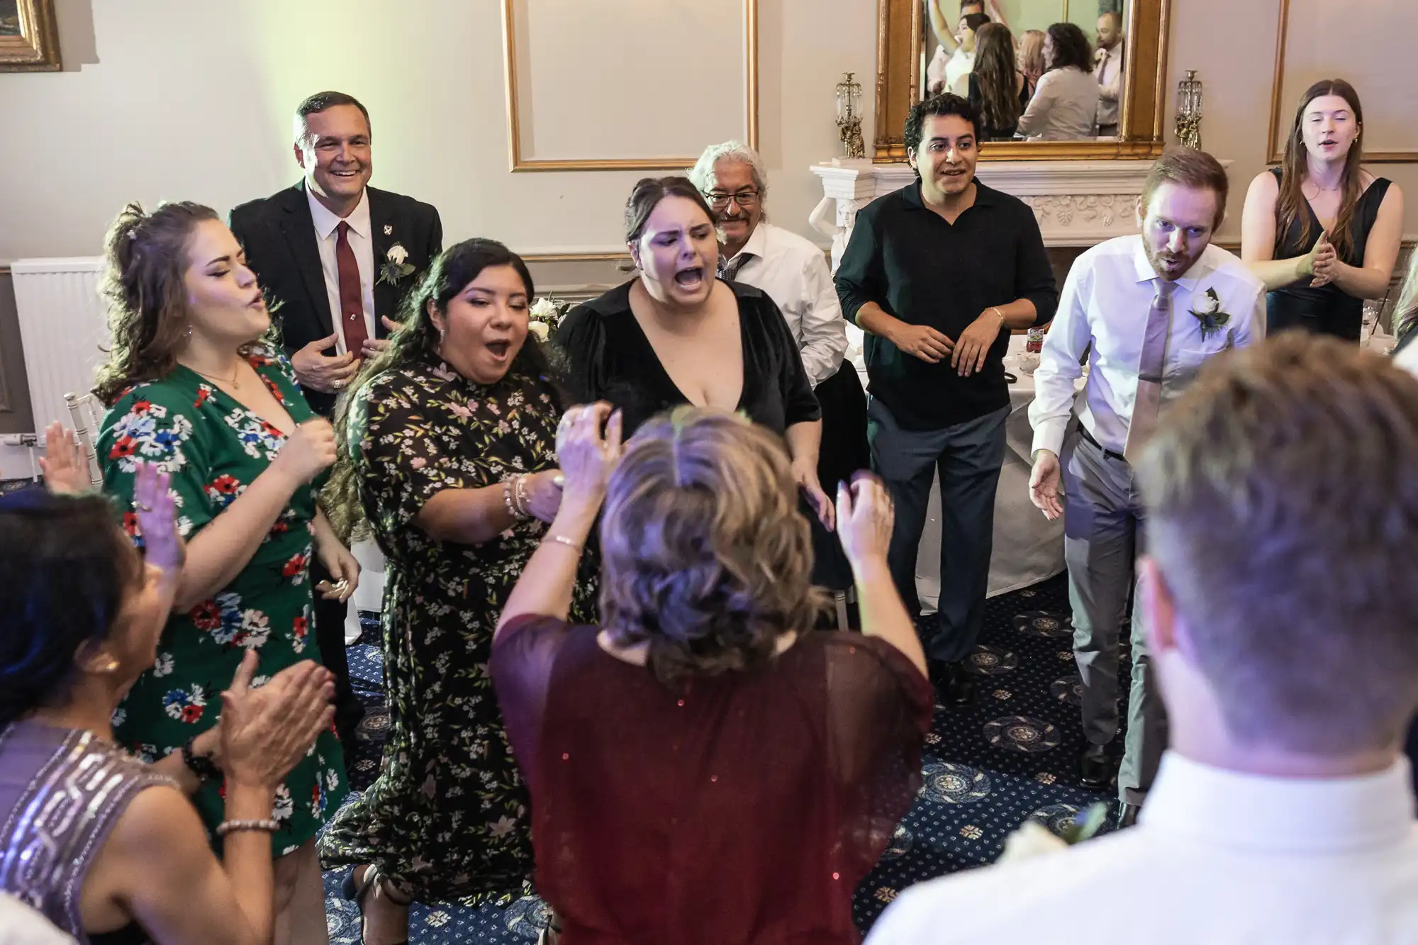
[[(250, 360), (292, 420), (313, 416), (282, 355), (259, 349)], [(119, 397), (104, 417), (98, 454), (104, 490), (118, 499), (123, 529), (140, 546), (132, 511), (139, 460), (169, 474), (177, 528), (190, 541), (267, 471), (284, 443), (274, 426), (179, 366)], [(315, 490), (303, 487), (235, 580), (190, 613), (167, 620), (156, 665), (139, 677), (113, 714), (121, 745), (152, 762), (216, 725), (220, 694), (247, 650), (261, 656), (255, 684), (301, 660), (319, 663), (311, 634), (313, 518)], [(281, 830), (272, 850), (284, 856), (315, 836), (346, 793), (345, 759), (332, 726), (277, 790), (272, 817)], [(221, 783), (208, 782), (193, 800), (208, 830), (221, 823)]]

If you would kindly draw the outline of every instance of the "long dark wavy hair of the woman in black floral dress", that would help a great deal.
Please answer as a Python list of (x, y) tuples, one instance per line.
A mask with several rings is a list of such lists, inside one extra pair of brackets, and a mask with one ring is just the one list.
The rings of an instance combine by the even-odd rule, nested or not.
[[(510, 265), (516, 270), (522, 284), (526, 285), (527, 302), (532, 301), (535, 297), (532, 272), (527, 271), (522, 257), (508, 247), (496, 240), (464, 240), (448, 247), (430, 264), (418, 285), (400, 304), (398, 321), (403, 328), (390, 338), (389, 348), (364, 362), (349, 390), (336, 402), (336, 461), (329, 482), (320, 492), (320, 508), (343, 541), (363, 535), (364, 531), (359, 481), (349, 444), (350, 404), (366, 400), (369, 387), (384, 372), (413, 363), (437, 363), (441, 339), (428, 308), (432, 306), (438, 312), (448, 311), (448, 302), (478, 278), (479, 272), (493, 265)], [(542, 377), (552, 387), (556, 409), (559, 411), (564, 409), (564, 392), (556, 382), (546, 352), (532, 332), (527, 332), (522, 350), (512, 359), (508, 373)]]

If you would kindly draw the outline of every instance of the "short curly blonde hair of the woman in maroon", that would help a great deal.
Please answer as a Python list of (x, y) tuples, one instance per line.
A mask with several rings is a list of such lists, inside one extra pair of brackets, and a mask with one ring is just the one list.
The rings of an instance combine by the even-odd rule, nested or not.
[(780, 437), (678, 407), (631, 438), (601, 518), (601, 620), (664, 682), (753, 670), (827, 606)]

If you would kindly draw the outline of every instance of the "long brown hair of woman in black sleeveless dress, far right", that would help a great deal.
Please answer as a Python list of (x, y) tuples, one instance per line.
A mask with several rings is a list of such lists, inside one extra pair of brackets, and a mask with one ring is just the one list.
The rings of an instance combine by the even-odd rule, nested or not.
[[(1358, 101), (1358, 92), (1344, 79), (1320, 79), (1305, 89), (1305, 95), (1300, 96), (1300, 105), (1295, 109), (1295, 123), (1290, 126), (1290, 135), (1285, 139), (1285, 158), (1280, 159), (1280, 196), (1275, 201), (1275, 231), (1283, 236), (1299, 220), (1302, 245), (1309, 245), (1310, 236), (1314, 233), (1303, 190), (1305, 179), (1310, 170), (1309, 149), (1305, 146), (1305, 109), (1316, 98), (1324, 95), (1343, 98), (1350, 111), (1354, 112), (1354, 125), (1360, 131), (1364, 128), (1364, 106)], [(1344, 156), (1339, 213), (1334, 216), (1334, 224), (1329, 228), (1334, 253), (1344, 262), (1360, 262), (1354, 258), (1354, 234), (1350, 231), (1353, 228), (1350, 223), (1354, 221), (1354, 210), (1358, 207), (1358, 199), (1363, 193), (1364, 136), (1360, 135), (1349, 146), (1349, 153)]]

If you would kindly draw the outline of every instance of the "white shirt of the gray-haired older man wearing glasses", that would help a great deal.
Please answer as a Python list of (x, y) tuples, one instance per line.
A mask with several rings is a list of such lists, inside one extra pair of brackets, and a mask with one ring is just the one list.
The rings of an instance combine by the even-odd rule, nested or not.
[(729, 262), (737, 258), (744, 262), (735, 281), (763, 289), (783, 309), (813, 386), (835, 375), (847, 353), (847, 321), (822, 250), (783, 227), (759, 223)]

